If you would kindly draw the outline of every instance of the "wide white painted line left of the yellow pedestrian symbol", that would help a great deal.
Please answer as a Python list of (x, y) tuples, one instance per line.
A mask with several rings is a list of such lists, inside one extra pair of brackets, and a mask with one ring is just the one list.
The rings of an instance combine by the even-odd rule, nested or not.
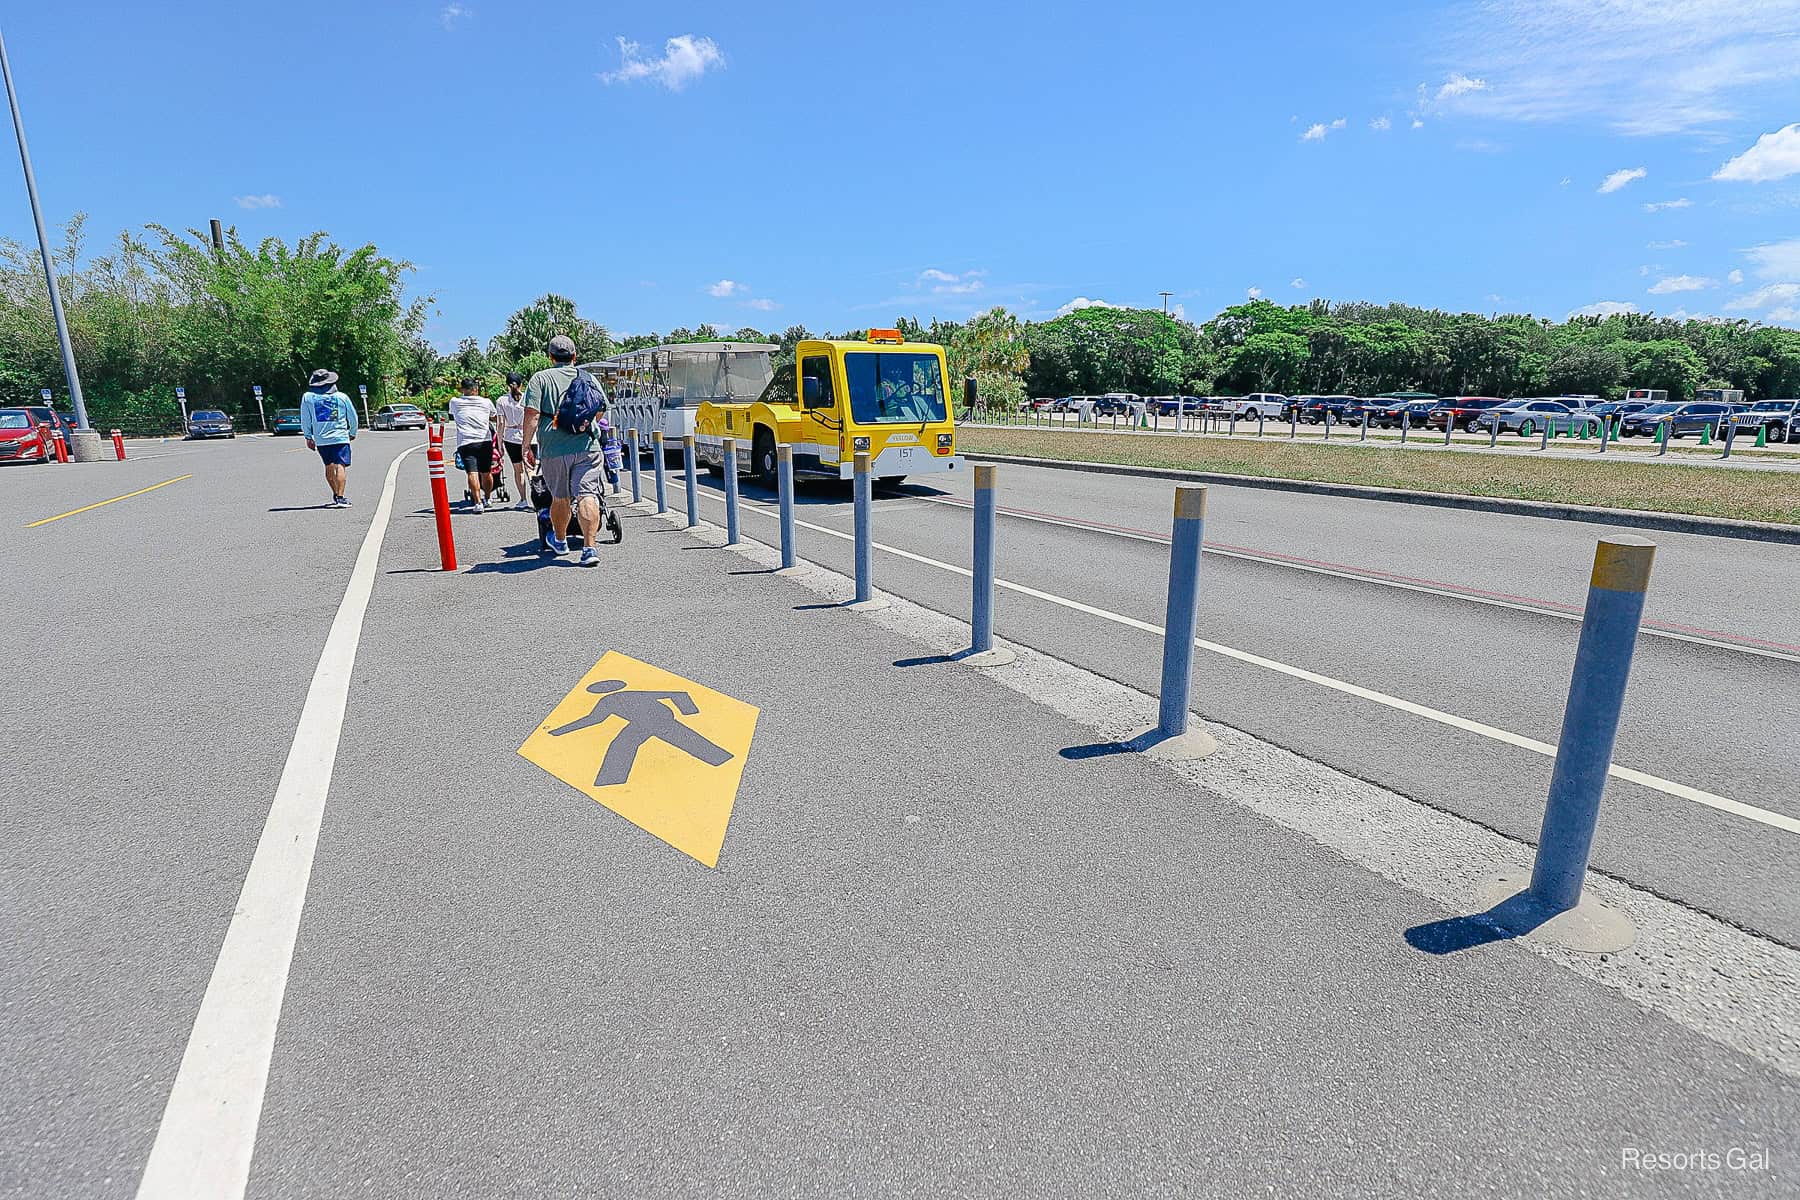
[(331, 790), (362, 617), (374, 588), (400, 464), (419, 448), (400, 452), (387, 468), (382, 500), (306, 689), (275, 801), (162, 1110), (157, 1142), (137, 1187), (139, 1200), (238, 1200), (250, 1178), (263, 1088)]

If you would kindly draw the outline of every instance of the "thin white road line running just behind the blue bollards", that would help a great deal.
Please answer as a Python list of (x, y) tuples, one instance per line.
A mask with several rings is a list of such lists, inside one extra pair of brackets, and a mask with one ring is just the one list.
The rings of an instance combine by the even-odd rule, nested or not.
[[(740, 504), (743, 507), (751, 509), (752, 513), (761, 513), (763, 516), (779, 516), (778, 509), (772, 509), (772, 507), (769, 507), (765, 504), (760, 504), (760, 502), (740, 500)], [(796, 518), (794, 524), (799, 525), (801, 529), (812, 529), (814, 533), (823, 533), (823, 534), (830, 534), (833, 538), (842, 538), (844, 542), (855, 542), (855, 534), (842, 533), (839, 529), (830, 529), (826, 525), (814, 525), (812, 522), (803, 522), (799, 518)], [(869, 542), (869, 545), (875, 547), (877, 551), (886, 551), (886, 552), (895, 554), (898, 558), (905, 558), (905, 560), (911, 560), (914, 563), (922, 563), (925, 567), (936, 567), (938, 570), (947, 570), (947, 572), (956, 574), (956, 576), (970, 578), (970, 574), (972, 574), (968, 570), (968, 567), (958, 567), (954, 563), (943, 563), (943, 561), (938, 561), (936, 558), (927, 558), (923, 554), (914, 554), (913, 551), (902, 551), (898, 547), (882, 545), (880, 542), (873, 542), (873, 540)], [(1096, 608), (1093, 604), (1084, 604), (1082, 601), (1073, 601), (1073, 599), (1067, 599), (1067, 597), (1062, 597), (1062, 596), (1055, 596), (1051, 592), (1040, 592), (1039, 588), (1031, 588), (1031, 587), (1026, 587), (1022, 583), (1012, 583), (1008, 579), (995, 579), (994, 587), (1006, 588), (1008, 592), (1017, 592), (1021, 596), (1030, 596), (1031, 599), (1040, 599), (1040, 601), (1044, 601), (1048, 604), (1057, 604), (1060, 608), (1069, 608), (1073, 612), (1080, 612), (1080, 613), (1085, 613), (1089, 617), (1098, 617), (1102, 621), (1111, 621), (1114, 624), (1123, 624), (1123, 626), (1129, 626), (1132, 630), (1143, 630), (1145, 633), (1154, 633), (1156, 637), (1163, 637), (1163, 626), (1150, 624), (1148, 621), (1138, 621), (1136, 617), (1127, 617), (1123, 613), (1116, 613), (1116, 612), (1111, 612), (1107, 608)], [(1264, 667), (1265, 671), (1278, 671), (1280, 675), (1287, 675), (1291, 678), (1305, 680), (1309, 684), (1318, 684), (1319, 687), (1330, 687), (1332, 691), (1341, 691), (1346, 696), (1355, 696), (1357, 700), (1370, 700), (1373, 703), (1381, 703), (1381, 705), (1386, 705), (1390, 709), (1397, 709), (1400, 712), (1408, 712), (1411, 716), (1424, 718), (1427, 721), (1436, 721), (1438, 725), (1449, 725), (1451, 729), (1460, 729), (1460, 730), (1469, 732), (1469, 734), (1480, 734), (1481, 738), (1490, 738), (1494, 741), (1501, 741), (1501, 743), (1507, 743), (1510, 747), (1519, 747), (1521, 750), (1532, 750), (1532, 752), (1543, 754), (1546, 757), (1555, 757), (1557, 756), (1557, 748), (1553, 745), (1550, 745), (1548, 741), (1537, 741), (1535, 738), (1526, 738), (1523, 734), (1516, 734), (1512, 730), (1499, 729), (1496, 725), (1485, 725), (1481, 721), (1472, 721), (1472, 720), (1469, 720), (1465, 716), (1456, 716), (1454, 712), (1444, 712), (1440, 709), (1433, 709), (1433, 707), (1427, 707), (1427, 705), (1422, 705), (1422, 703), (1413, 703), (1411, 700), (1400, 700), (1399, 696), (1390, 696), (1388, 693), (1375, 691), (1373, 687), (1363, 687), (1361, 684), (1350, 684), (1350, 682), (1341, 680), (1341, 678), (1332, 678), (1330, 675), (1319, 675), (1318, 671), (1307, 671), (1305, 667), (1289, 666), (1289, 664), (1278, 662), (1274, 658), (1264, 658), (1262, 655), (1253, 655), (1253, 653), (1249, 653), (1246, 649), (1237, 649), (1233, 646), (1222, 646), (1219, 642), (1208, 642), (1206, 639), (1199, 639), (1199, 637), (1193, 639), (1193, 644), (1199, 646), (1204, 651), (1210, 651), (1210, 653), (1215, 653), (1215, 655), (1222, 655), (1226, 658), (1235, 658), (1238, 662), (1244, 662), (1244, 664), (1249, 664), (1249, 666), (1255, 666), (1255, 667)], [(1712, 792), (1701, 792), (1699, 788), (1690, 788), (1685, 783), (1674, 783), (1672, 779), (1661, 779), (1658, 775), (1651, 775), (1649, 772), (1634, 770), (1631, 766), (1620, 766), (1618, 763), (1613, 763), (1607, 768), (1607, 774), (1613, 775), (1615, 779), (1624, 779), (1627, 783), (1634, 783), (1634, 784), (1651, 788), (1654, 792), (1661, 792), (1663, 795), (1672, 795), (1672, 797), (1678, 797), (1678, 799), (1683, 799), (1683, 801), (1692, 801), (1694, 804), (1703, 804), (1706, 808), (1715, 808), (1721, 813), (1732, 813), (1733, 817), (1742, 817), (1744, 820), (1755, 820), (1755, 822), (1771, 826), (1775, 829), (1786, 829), (1787, 833), (1800, 833), (1800, 820), (1796, 820), (1793, 817), (1786, 817), (1782, 813), (1771, 813), (1769, 810), (1757, 808), (1755, 804), (1744, 804), (1741, 801), (1733, 801), (1733, 799), (1728, 799), (1728, 797), (1723, 797), (1723, 795), (1714, 795)]]

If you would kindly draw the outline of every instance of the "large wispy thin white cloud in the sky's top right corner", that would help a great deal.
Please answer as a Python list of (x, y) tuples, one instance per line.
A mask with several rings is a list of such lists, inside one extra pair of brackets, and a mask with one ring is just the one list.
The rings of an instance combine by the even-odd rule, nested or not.
[(1800, 0), (1485, 0), (1445, 22), (1489, 86), (1444, 103), (1481, 117), (1679, 133), (1800, 79)]

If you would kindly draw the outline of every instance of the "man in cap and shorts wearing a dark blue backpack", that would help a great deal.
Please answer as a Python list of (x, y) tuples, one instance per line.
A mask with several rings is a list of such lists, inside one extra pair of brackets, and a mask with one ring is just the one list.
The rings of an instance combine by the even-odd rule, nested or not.
[[(607, 479), (601, 416), (607, 392), (574, 365), (574, 342), (563, 335), (545, 347), (551, 367), (526, 383), (526, 466), (544, 473), (551, 493), (551, 554), (569, 552), (569, 516), (581, 524), (581, 565), (598, 567), (599, 493)], [(535, 441), (533, 441), (535, 439)]]

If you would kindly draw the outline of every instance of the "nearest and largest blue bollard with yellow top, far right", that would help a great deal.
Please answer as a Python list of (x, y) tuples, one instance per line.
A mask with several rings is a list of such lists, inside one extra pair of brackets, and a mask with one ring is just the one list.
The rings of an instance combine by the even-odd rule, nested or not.
[(1602, 538), (1593, 554), (1575, 675), (1532, 865), (1530, 896), (1552, 912), (1580, 903), (1654, 558), (1654, 542), (1629, 534)]

